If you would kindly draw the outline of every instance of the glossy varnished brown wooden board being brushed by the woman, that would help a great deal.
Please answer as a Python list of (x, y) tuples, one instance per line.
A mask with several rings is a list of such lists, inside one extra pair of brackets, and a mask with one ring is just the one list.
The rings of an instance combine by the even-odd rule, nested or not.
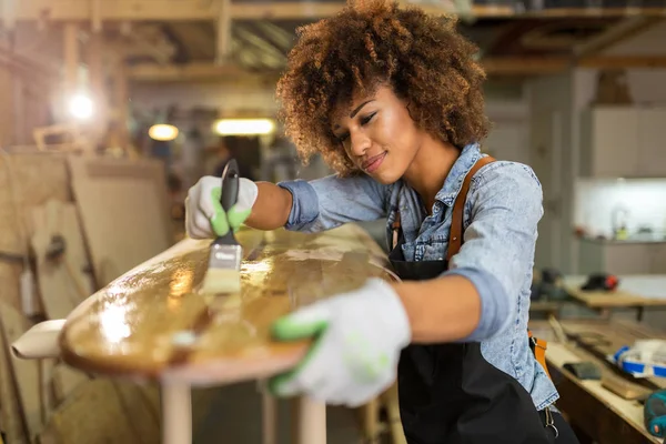
[(60, 337), (74, 367), (109, 375), (208, 384), (293, 366), (306, 342), (276, 343), (270, 325), (317, 299), (393, 279), (385, 256), (356, 225), (321, 234), (238, 233), (242, 291), (199, 294), (210, 241), (184, 240), (79, 305)]

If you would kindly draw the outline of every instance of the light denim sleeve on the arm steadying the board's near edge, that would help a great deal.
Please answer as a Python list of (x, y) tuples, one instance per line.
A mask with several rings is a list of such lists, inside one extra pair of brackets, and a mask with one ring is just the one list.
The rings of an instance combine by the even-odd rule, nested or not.
[(494, 162), (476, 175), (467, 199), (472, 222), (444, 273), (467, 278), (481, 297), (481, 320), (464, 341), (492, 339), (515, 320), (521, 292), (529, 292), (543, 216), (542, 186), (529, 167)]

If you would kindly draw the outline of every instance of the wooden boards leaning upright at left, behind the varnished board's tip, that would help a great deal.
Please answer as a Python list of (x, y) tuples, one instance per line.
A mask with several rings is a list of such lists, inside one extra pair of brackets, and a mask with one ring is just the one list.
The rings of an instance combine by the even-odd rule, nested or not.
[[(20, 360), (10, 344), (37, 321), (65, 317), (94, 291), (173, 244), (163, 164), (0, 154), (4, 443), (159, 442), (155, 385), (94, 377), (59, 360)], [(29, 303), (20, 290), (27, 269), (34, 282)]]

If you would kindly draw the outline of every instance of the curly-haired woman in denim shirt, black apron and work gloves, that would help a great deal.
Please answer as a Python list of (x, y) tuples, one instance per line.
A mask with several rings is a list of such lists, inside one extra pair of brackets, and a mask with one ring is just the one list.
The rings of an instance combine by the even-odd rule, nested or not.
[(304, 27), (278, 85), (285, 131), (337, 174), (242, 180), (228, 214), (211, 198), (219, 178), (204, 178), (188, 231), (316, 232), (386, 216), (403, 282), (370, 280), (279, 320), (276, 339), (316, 341), (275, 393), (356, 406), (397, 376), (410, 443), (574, 443), (527, 336), (542, 190), (528, 167), (480, 152), (476, 50), (454, 20), (383, 1)]

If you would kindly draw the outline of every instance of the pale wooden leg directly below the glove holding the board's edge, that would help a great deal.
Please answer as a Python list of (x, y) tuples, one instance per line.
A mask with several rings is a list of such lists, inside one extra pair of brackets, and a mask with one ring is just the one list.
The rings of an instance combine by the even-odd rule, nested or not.
[(326, 404), (300, 396), (292, 407), (292, 443), (326, 444)]

